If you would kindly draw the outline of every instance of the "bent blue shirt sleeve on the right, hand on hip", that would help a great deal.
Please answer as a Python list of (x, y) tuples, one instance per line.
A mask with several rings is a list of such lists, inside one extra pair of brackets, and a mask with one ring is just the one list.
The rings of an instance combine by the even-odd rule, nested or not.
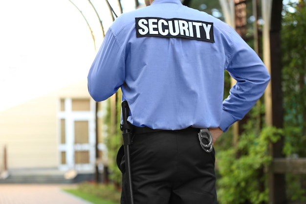
[(234, 30), (232, 39), (233, 51), (226, 70), (237, 83), (223, 101), (220, 129), (224, 132), (250, 111), (270, 81), (270, 74), (262, 60)]

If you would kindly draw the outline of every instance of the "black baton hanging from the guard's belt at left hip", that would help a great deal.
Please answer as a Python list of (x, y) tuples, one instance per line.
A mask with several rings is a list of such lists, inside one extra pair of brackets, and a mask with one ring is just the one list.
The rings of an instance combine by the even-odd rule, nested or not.
[(124, 146), (128, 197), (129, 197), (130, 204), (134, 204), (132, 179), (131, 179), (131, 158), (130, 158), (130, 145), (132, 143), (131, 142), (131, 127), (128, 123), (128, 116), (130, 113), (130, 108), (129, 108), (129, 104), (127, 101), (123, 101), (121, 105), (122, 105), (122, 120), (123, 120), (122, 140), (123, 140), (123, 146)]

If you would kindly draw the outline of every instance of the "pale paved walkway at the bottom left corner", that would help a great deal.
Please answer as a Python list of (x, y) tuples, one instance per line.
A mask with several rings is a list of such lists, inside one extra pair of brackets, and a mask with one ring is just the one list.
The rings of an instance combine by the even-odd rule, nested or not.
[(62, 189), (75, 185), (0, 184), (0, 204), (91, 204)]

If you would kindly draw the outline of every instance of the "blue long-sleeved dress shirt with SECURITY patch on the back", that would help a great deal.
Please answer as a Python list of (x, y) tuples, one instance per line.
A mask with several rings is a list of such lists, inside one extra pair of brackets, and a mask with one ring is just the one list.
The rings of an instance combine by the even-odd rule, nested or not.
[[(237, 83), (223, 101), (224, 70)], [(262, 60), (229, 25), (180, 0), (154, 0), (110, 26), (89, 70), (88, 90), (102, 101), (121, 88), (129, 121), (138, 127), (227, 131), (269, 80)]]

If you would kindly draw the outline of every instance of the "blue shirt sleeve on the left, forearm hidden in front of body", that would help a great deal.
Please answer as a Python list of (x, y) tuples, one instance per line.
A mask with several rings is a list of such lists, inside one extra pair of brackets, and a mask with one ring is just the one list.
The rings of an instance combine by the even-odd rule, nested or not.
[(87, 76), (88, 91), (95, 101), (109, 98), (124, 83), (124, 58), (122, 47), (109, 28)]

